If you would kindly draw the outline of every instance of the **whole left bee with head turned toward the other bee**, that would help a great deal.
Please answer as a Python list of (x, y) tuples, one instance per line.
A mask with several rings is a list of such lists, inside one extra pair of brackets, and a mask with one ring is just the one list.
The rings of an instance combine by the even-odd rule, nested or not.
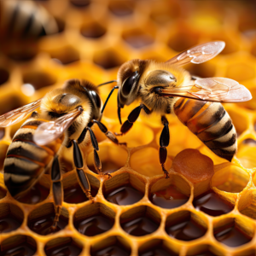
[[(38, 111), (35, 111), (36, 108)], [(90, 183), (83, 171), (84, 161), (79, 144), (84, 142), (89, 131), (94, 148), (94, 165), (100, 175), (106, 173), (102, 173), (102, 163), (97, 154), (99, 147), (91, 127), (98, 125), (113, 143), (119, 144), (113, 133), (100, 121), (101, 108), (102, 101), (96, 85), (85, 80), (71, 79), (62, 88), (49, 91), (43, 98), (0, 116), (0, 126), (6, 127), (32, 113), (9, 145), (3, 167), (4, 183), (10, 195), (15, 197), (30, 189), (51, 168), (55, 203), (54, 229), (63, 201), (58, 159), (61, 150), (73, 145), (73, 161), (79, 185), (91, 200)]]

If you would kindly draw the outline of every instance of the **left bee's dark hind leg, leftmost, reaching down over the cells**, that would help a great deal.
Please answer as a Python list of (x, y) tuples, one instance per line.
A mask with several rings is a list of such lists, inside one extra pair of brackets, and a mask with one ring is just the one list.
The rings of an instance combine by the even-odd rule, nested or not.
[(55, 219), (54, 223), (51, 226), (51, 229), (56, 230), (59, 218), (61, 216), (61, 207), (63, 201), (63, 188), (61, 183), (62, 177), (58, 155), (55, 155), (55, 158), (51, 166), (50, 175), (52, 180), (52, 192), (55, 202)]

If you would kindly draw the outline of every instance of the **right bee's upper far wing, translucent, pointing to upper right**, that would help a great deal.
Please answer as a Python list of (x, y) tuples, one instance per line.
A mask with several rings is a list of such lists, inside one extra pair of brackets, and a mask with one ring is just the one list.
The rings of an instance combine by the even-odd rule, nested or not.
[(169, 61), (168, 64), (176, 64), (178, 66), (183, 66), (189, 62), (200, 64), (211, 60), (213, 57), (218, 55), (225, 47), (223, 41), (215, 41), (207, 44), (200, 44), (191, 49), (187, 49), (176, 55)]

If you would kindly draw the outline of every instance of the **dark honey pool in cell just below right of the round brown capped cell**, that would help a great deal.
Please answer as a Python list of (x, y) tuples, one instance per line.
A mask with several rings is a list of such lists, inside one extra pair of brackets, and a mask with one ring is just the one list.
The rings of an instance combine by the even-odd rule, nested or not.
[(234, 208), (227, 201), (221, 199), (212, 190), (196, 197), (193, 201), (193, 205), (196, 210), (205, 212), (211, 216), (219, 216), (231, 212)]

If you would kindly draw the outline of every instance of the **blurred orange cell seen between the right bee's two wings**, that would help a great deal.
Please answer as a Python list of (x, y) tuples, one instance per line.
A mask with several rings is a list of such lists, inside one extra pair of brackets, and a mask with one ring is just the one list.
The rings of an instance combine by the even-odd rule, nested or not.
[(191, 75), (201, 78), (212, 78), (215, 76), (216, 73), (216, 66), (212, 64), (211, 61), (207, 61), (206, 63), (202, 64), (189, 64), (186, 67), (186, 70), (189, 71)]

